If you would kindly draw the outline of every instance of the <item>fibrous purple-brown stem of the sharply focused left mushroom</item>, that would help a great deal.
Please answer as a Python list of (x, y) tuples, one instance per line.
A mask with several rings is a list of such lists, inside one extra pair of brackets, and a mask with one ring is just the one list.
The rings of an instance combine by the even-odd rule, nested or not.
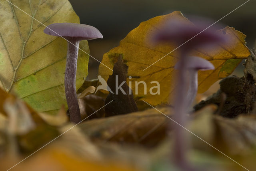
[(79, 42), (75, 39), (69, 39), (68, 54), (65, 71), (65, 93), (70, 113), (70, 121), (79, 123), (81, 121), (80, 109), (76, 96), (76, 67)]

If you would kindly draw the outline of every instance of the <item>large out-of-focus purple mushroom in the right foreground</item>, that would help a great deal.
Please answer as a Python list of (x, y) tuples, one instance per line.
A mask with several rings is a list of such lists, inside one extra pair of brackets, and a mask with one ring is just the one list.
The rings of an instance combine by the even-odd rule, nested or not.
[[(203, 23), (203, 21), (200, 21)], [(199, 48), (205, 45), (212, 45), (216, 43), (226, 42), (227, 39), (223, 35), (216, 34), (212, 28), (205, 29), (196, 27), (190, 22), (182, 22), (178, 20), (167, 21), (164, 26), (158, 29), (152, 34), (152, 42), (154, 44), (159, 42), (170, 42), (176, 44), (180, 52), (179, 68), (177, 77), (177, 88), (174, 102), (174, 120), (182, 126), (186, 126), (185, 113), (187, 112), (188, 103), (190, 100), (186, 100), (186, 69), (189, 68), (189, 53), (191, 50)], [(174, 49), (174, 50), (176, 50)], [(196, 75), (193, 75), (194, 77)], [(195, 80), (195, 79), (194, 79)], [(192, 80), (193, 81), (193, 80)], [(193, 96), (190, 95), (191, 98)], [(186, 159), (186, 151), (188, 147), (188, 141), (184, 135), (183, 128), (174, 124), (174, 158), (176, 164), (184, 170), (193, 170)]]

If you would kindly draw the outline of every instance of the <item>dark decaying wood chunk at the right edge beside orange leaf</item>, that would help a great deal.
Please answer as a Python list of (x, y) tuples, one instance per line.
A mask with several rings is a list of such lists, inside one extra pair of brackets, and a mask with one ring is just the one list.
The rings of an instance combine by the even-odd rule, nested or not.
[(244, 77), (230, 76), (220, 82), (220, 89), (205, 101), (194, 106), (197, 111), (208, 104), (220, 105), (221, 94), (226, 94), (226, 101), (219, 111), (224, 117), (236, 117), (251, 113), (256, 101), (256, 49), (251, 50), (251, 56), (246, 60)]

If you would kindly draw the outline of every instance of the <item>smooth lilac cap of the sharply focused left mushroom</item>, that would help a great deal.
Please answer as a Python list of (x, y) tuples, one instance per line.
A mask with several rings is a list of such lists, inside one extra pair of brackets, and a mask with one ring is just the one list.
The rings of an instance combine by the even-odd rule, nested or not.
[(93, 26), (76, 23), (54, 23), (44, 29), (44, 33), (51, 36), (73, 37), (79, 40), (103, 38), (98, 29)]

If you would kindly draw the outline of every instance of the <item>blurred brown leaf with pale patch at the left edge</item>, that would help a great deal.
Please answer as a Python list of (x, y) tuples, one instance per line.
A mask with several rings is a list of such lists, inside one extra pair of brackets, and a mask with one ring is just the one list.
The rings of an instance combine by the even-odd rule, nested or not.
[(4, 151), (8, 155), (34, 152), (59, 135), (56, 127), (48, 125), (24, 101), (1, 89), (0, 95), (1, 113), (6, 115), (2, 132), (8, 137), (3, 144), (7, 145)]

